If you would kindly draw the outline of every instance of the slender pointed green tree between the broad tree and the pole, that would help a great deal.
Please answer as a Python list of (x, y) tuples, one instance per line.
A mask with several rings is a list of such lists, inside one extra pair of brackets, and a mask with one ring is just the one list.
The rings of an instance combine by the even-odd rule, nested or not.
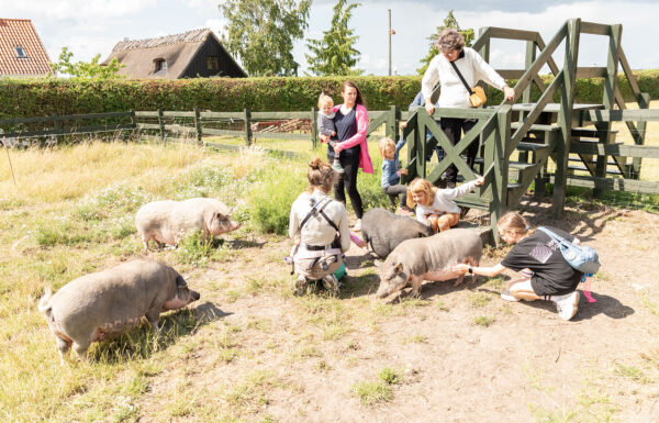
[(334, 7), (334, 15), (330, 30), (323, 32), (322, 40), (309, 40), (306, 47), (311, 54), (305, 54), (309, 70), (316, 76), (326, 75), (361, 75), (362, 70), (354, 68), (359, 59), (355, 42), (359, 38), (355, 31), (348, 27), (353, 9), (360, 3), (346, 5), (347, 0), (338, 0)]

